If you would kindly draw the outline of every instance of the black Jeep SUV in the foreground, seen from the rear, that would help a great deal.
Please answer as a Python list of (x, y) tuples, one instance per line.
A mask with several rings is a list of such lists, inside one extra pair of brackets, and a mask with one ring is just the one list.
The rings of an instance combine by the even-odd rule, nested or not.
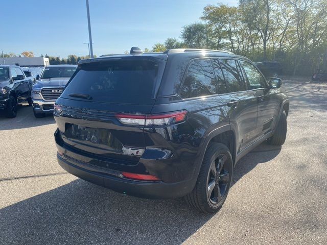
[(237, 161), (286, 138), (288, 96), (253, 63), (208, 50), (82, 60), (55, 104), (59, 164), (112, 190), (215, 212)]

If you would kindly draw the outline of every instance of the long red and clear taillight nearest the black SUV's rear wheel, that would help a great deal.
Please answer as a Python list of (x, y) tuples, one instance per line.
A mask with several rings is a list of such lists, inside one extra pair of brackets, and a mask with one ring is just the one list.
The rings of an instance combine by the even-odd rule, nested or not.
[(182, 122), (186, 119), (188, 111), (177, 111), (166, 114), (116, 114), (115, 117), (126, 125), (138, 125), (138, 126), (165, 126), (172, 125), (178, 122)]

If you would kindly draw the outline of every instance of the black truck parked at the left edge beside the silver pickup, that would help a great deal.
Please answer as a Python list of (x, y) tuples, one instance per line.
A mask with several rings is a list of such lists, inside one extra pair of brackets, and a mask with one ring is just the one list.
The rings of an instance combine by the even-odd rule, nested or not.
[(27, 78), (19, 66), (0, 65), (0, 110), (7, 117), (17, 115), (17, 103), (27, 101), (32, 105), (33, 79)]

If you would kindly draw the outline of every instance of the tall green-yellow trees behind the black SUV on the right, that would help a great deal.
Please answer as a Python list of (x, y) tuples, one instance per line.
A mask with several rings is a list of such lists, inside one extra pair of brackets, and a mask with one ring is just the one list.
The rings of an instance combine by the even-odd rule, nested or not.
[(231, 51), (256, 62), (279, 61), (288, 75), (327, 69), (326, 0), (239, 0), (236, 7), (207, 5), (200, 18), (182, 27), (181, 42), (168, 38), (152, 51)]

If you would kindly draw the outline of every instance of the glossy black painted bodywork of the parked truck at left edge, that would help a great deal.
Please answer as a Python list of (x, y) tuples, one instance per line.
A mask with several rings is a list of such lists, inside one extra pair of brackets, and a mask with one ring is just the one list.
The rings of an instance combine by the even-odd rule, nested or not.
[(0, 93), (0, 109), (6, 108), (10, 95), (13, 95), (17, 99), (17, 103), (29, 100), (31, 97), (31, 90), (34, 79), (27, 78), (25, 75), (19, 79), (13, 78), (11, 74), (11, 68), (17, 68), (21, 70), (19, 66), (1, 65), (0, 67), (8, 68), (10, 76), (7, 80), (0, 80), (0, 89), (6, 90), (5, 93)]

